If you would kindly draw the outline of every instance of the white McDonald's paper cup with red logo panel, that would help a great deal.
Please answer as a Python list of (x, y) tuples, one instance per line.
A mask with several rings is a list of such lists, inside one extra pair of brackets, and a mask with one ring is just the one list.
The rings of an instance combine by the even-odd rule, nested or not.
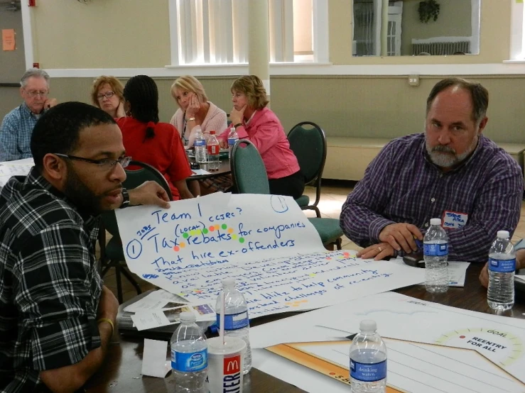
[(242, 393), (242, 369), (246, 343), (242, 338), (213, 337), (208, 344), (208, 389), (210, 393)]

